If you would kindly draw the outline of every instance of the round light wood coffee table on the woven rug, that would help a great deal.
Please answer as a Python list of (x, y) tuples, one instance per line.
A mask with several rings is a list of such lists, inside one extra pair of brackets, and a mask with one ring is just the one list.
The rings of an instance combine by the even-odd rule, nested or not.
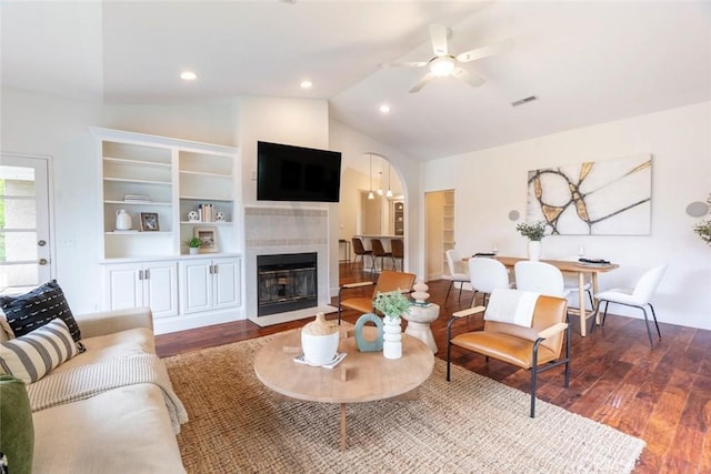
[[(352, 329), (352, 325), (344, 327)], [(365, 327), (369, 329), (369, 327)], [(397, 399), (412, 400), (432, 373), (434, 356), (417, 337), (402, 334), (402, 357), (382, 352), (359, 352), (354, 337), (341, 337), (339, 352), (348, 355), (334, 369), (293, 362), (301, 353), (301, 331), (290, 331), (267, 343), (254, 356), (257, 377), (274, 392), (297, 400), (339, 403), (341, 450), (346, 448), (346, 405)]]

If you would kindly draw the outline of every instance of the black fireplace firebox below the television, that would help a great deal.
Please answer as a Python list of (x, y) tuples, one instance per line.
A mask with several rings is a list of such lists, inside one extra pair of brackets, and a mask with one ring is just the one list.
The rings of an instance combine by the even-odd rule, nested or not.
[(313, 307), (318, 303), (317, 253), (257, 255), (257, 315)]

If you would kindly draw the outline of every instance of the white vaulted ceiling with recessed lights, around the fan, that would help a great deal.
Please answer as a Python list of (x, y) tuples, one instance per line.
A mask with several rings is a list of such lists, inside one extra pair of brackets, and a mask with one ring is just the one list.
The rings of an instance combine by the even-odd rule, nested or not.
[[(103, 103), (327, 99), (420, 160), (711, 99), (707, 1), (2, 1), (0, 14), (4, 87)], [(432, 58), (431, 23), (452, 53), (513, 46), (462, 64), (478, 88), (450, 77), (409, 93), (425, 68), (379, 64)]]

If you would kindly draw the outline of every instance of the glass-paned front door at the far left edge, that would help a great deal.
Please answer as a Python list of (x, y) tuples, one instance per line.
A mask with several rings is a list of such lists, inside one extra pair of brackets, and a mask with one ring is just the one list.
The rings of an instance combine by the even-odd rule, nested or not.
[(0, 157), (0, 294), (52, 278), (48, 168), (42, 157)]

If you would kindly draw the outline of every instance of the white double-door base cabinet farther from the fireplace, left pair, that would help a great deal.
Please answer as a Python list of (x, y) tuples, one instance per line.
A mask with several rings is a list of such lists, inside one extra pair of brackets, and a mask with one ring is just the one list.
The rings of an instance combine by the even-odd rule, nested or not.
[(174, 261), (110, 264), (103, 275), (106, 310), (150, 306), (154, 317), (178, 314)]

